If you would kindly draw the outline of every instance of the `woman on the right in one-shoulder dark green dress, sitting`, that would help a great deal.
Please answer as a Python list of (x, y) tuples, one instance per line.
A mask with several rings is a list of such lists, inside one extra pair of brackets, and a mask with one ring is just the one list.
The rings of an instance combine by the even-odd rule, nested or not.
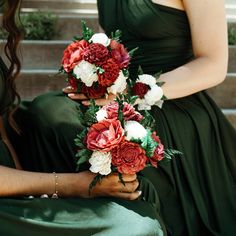
[[(162, 109), (153, 107), (151, 112), (165, 147), (184, 155), (142, 174), (158, 192), (168, 234), (236, 234), (236, 133), (204, 91), (222, 82), (227, 71), (223, 0), (98, 0), (98, 9), (107, 34), (120, 29), (125, 46), (139, 48), (131, 77), (137, 77), (139, 66), (147, 74), (162, 71), (160, 81), (165, 82), (168, 99)], [(72, 99), (84, 99), (65, 91)], [(74, 171), (76, 106), (61, 93), (32, 102), (26, 131), (32, 168)], [(35, 144), (40, 153), (29, 150)]]

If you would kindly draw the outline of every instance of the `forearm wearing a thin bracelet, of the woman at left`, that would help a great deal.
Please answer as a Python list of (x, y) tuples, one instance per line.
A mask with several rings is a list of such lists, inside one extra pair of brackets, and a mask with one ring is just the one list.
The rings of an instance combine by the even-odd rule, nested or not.
[[(40, 196), (55, 192), (55, 175), (0, 166), (0, 196)], [(82, 174), (57, 174), (59, 197), (82, 196), (88, 190)], [(81, 181), (80, 181), (80, 178)], [(89, 179), (87, 180), (89, 181)], [(87, 188), (87, 190), (86, 190)], [(87, 191), (88, 192), (88, 191)]]

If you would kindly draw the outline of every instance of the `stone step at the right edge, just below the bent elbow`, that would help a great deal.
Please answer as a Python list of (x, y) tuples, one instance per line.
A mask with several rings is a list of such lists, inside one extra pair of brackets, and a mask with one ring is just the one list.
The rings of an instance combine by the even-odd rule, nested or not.
[(223, 83), (207, 92), (219, 107), (236, 108), (236, 73), (227, 74)]

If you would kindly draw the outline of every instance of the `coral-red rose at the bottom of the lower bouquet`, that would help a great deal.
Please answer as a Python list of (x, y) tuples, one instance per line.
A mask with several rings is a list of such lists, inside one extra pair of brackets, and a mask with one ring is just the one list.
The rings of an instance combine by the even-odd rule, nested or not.
[(121, 174), (135, 174), (144, 169), (147, 161), (145, 150), (137, 143), (124, 141), (111, 150), (112, 164)]

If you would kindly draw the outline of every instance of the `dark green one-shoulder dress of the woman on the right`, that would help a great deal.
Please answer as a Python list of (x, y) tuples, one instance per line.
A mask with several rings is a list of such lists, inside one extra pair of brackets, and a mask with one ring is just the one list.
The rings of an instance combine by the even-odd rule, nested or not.
[[(193, 58), (184, 11), (151, 0), (98, 0), (98, 9), (107, 34), (120, 29), (128, 49), (139, 47), (130, 67), (131, 76), (136, 76), (139, 65), (145, 73), (154, 74)], [(74, 171), (73, 139), (80, 130), (77, 107), (60, 92), (32, 102), (27, 116), (19, 118), (27, 123), (23, 137), (26, 151), (21, 156), (25, 168)], [(163, 108), (153, 108), (152, 114), (165, 147), (184, 153), (159, 169), (148, 168), (142, 173), (156, 187), (169, 235), (236, 235), (233, 127), (204, 91), (165, 101)], [(21, 145), (21, 153), (23, 149)]]

